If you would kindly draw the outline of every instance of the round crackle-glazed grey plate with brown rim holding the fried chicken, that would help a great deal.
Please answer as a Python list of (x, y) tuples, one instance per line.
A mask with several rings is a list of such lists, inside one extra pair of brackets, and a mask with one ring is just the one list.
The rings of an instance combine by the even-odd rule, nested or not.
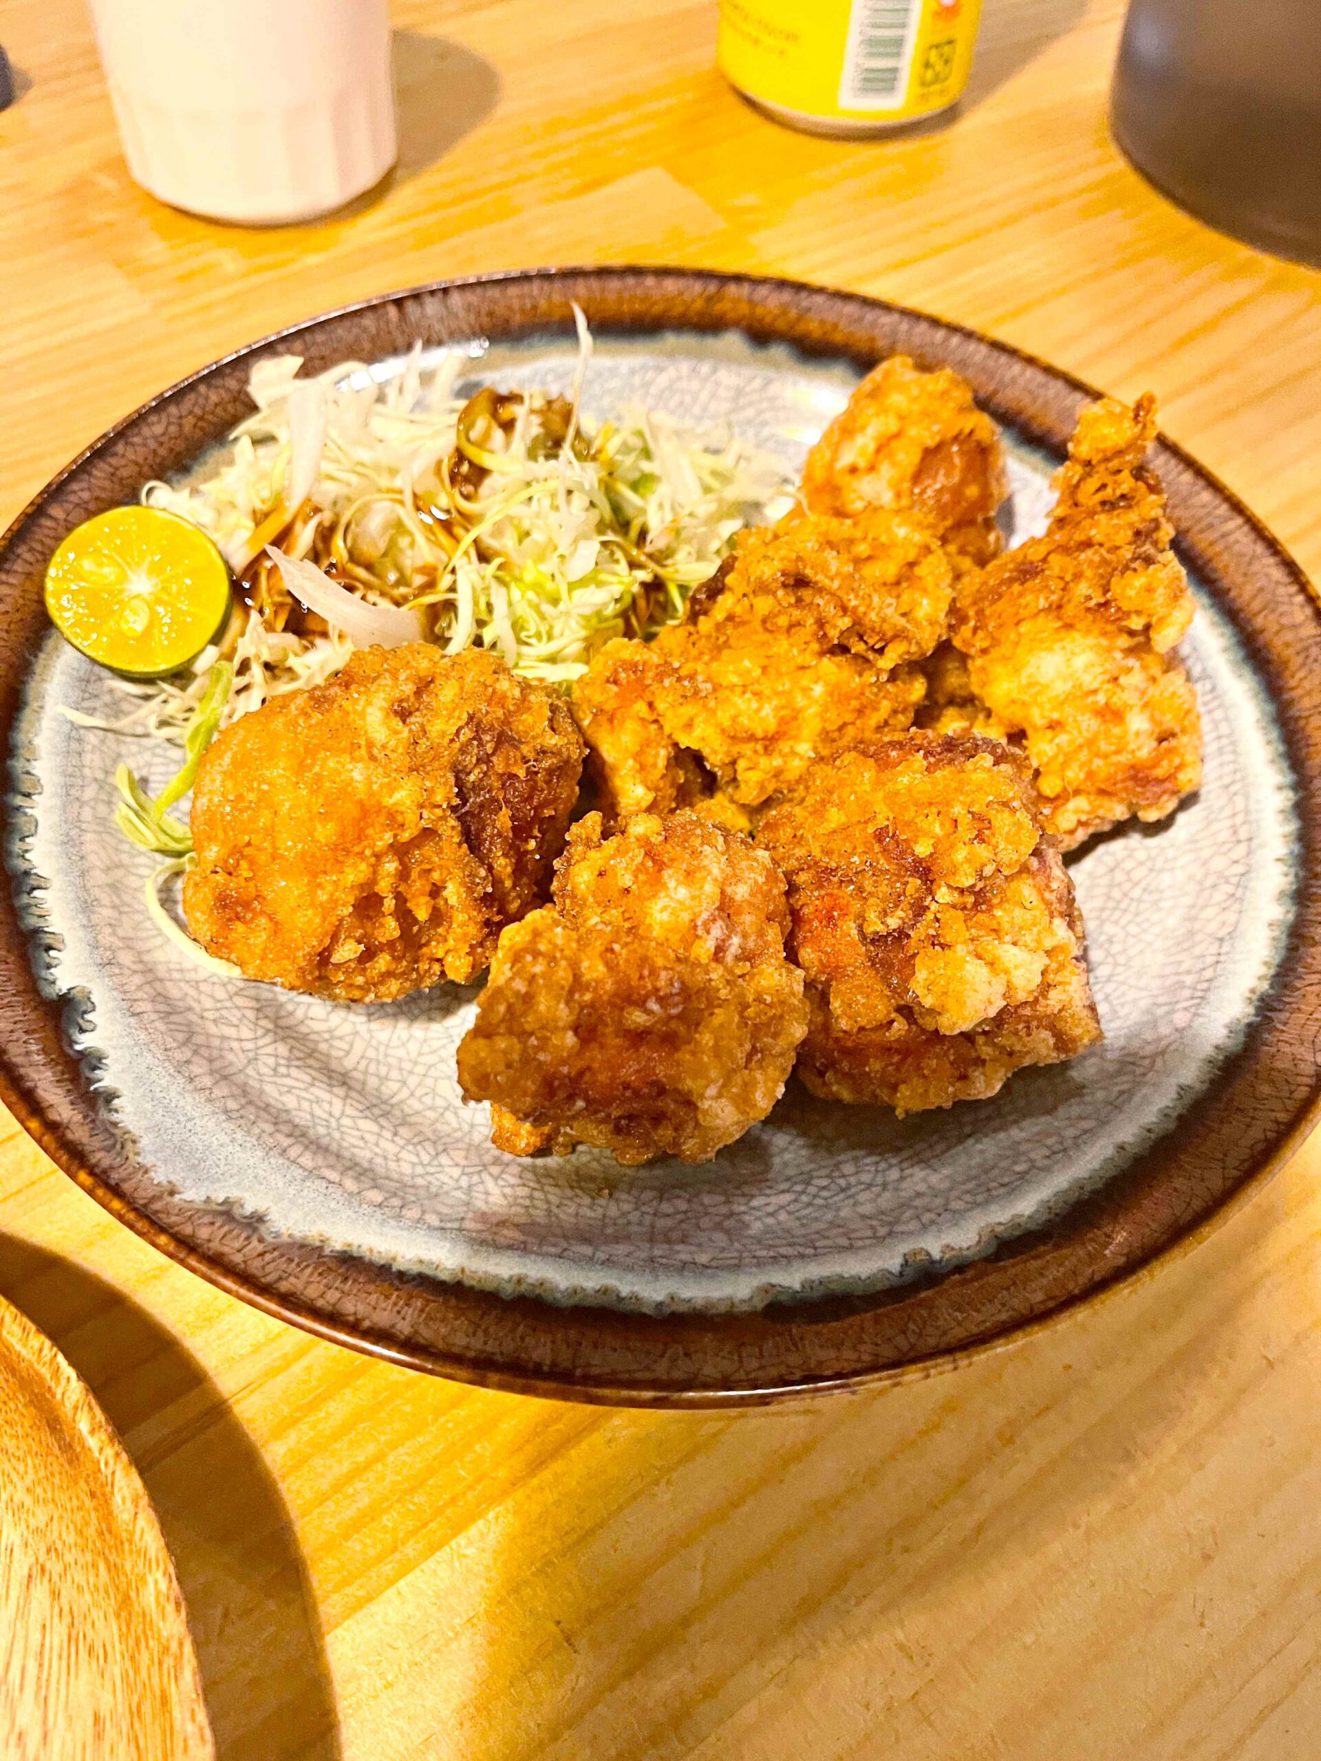
[[(393, 294), (254, 343), (99, 440), (0, 553), (9, 782), (0, 1087), (69, 1173), (166, 1252), (303, 1326), (403, 1363), (595, 1400), (736, 1402), (912, 1374), (1046, 1319), (1192, 1236), (1307, 1129), (1317, 1099), (1321, 618), (1296, 565), (1161, 442), (1198, 597), (1184, 653), (1201, 792), (1071, 861), (1106, 1032), (993, 1101), (897, 1122), (791, 1085), (703, 1168), (520, 1160), (463, 1106), (476, 990), (347, 1007), (231, 983), (162, 940), (150, 858), (111, 828), (114, 763), (169, 752), (74, 727), (106, 676), (44, 622), (63, 534), (199, 468), (252, 361), (400, 370), (731, 423), (789, 472), (877, 357), (949, 365), (1002, 423), (1009, 539), (1041, 530), (1092, 393), (935, 319), (787, 282), (583, 269)], [(203, 467), (204, 468), (204, 467)]]

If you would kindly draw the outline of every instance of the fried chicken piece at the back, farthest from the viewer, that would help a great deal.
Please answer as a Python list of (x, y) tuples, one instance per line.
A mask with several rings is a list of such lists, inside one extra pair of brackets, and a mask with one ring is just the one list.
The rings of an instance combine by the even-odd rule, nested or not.
[(891, 354), (808, 453), (801, 493), (817, 514), (916, 514), (958, 567), (979, 567), (1000, 549), (995, 511), (1009, 479), (999, 428), (965, 380)]

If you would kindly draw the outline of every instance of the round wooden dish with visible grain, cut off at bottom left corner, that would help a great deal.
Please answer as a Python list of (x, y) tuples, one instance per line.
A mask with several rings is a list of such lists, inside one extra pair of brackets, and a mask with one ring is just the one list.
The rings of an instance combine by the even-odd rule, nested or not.
[(86, 1384), (4, 1298), (0, 1754), (215, 1754), (183, 1599), (143, 1483)]

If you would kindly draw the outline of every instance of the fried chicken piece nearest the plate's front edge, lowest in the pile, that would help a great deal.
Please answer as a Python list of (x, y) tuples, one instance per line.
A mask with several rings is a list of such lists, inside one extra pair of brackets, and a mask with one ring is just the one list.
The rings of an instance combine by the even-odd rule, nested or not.
[(770, 1113), (807, 1030), (784, 956), (784, 879), (747, 838), (680, 812), (569, 833), (555, 903), (500, 937), (458, 1048), (514, 1155), (590, 1143), (632, 1166), (710, 1160)]

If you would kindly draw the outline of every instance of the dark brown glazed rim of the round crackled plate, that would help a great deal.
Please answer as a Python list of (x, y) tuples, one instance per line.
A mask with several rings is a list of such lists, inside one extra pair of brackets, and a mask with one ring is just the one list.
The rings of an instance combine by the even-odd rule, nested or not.
[[(609, 296), (618, 303), (624, 319), (632, 319), (632, 322), (608, 319), (601, 326), (604, 331), (624, 333), (634, 328), (639, 331), (689, 329), (719, 335), (733, 328), (743, 329), (757, 342), (782, 342), (805, 354), (852, 359), (858, 366), (870, 365), (881, 352), (918, 343), (912, 352), (925, 354), (932, 361), (951, 361), (965, 370), (967, 361), (951, 359), (948, 345), (955, 342), (953, 354), (965, 356), (986, 370), (999, 366), (1004, 372), (1004, 380), (995, 387), (978, 386), (978, 396), (993, 409), (1004, 410), (1015, 373), (1023, 379), (1018, 387), (1022, 398), (1036, 396), (1037, 403), (1029, 402), (1027, 407), (1015, 409), (1009, 419), (1023, 435), (1046, 446), (1057, 456), (1062, 435), (1067, 433), (1076, 409), (1099, 396), (1073, 373), (969, 326), (951, 324), (891, 301), (791, 278), (650, 264), (507, 269), (493, 275), (442, 278), (352, 301), (285, 326), (229, 350), (148, 398), (70, 460), (9, 525), (0, 537), (0, 586), (14, 588), (12, 556), (25, 537), (30, 537), (33, 525), (42, 521), (42, 516), (53, 507), (60, 507), (65, 486), (77, 486), (79, 474), (86, 474), (99, 460), (113, 460), (116, 449), (123, 449), (139, 426), (150, 424), (155, 416), (167, 417), (169, 410), (185, 400), (185, 394), (199, 387), (222, 386), (225, 375), (232, 377), (240, 365), (243, 379), (247, 379), (247, 363), (262, 350), (287, 347), (296, 338), (314, 338), (314, 333), (331, 333), (354, 319), (368, 321), (372, 315), (377, 315), (389, 329), (391, 321), (405, 315), (410, 306), (424, 303), (435, 303), (444, 315), (446, 301), (454, 305), (460, 319), (451, 331), (453, 335), (474, 335), (474, 324), (463, 322), (465, 303), (476, 313), (483, 303), (500, 305), (504, 301), (504, 306), (509, 308), (504, 317), (509, 319), (518, 315), (520, 298), (527, 299), (527, 317), (532, 322), (525, 324), (521, 331), (511, 324), (506, 324), (504, 329), (495, 328), (497, 336), (548, 335), (550, 331), (571, 335), (569, 303), (579, 294), (587, 298), (588, 305), (594, 296)], [(683, 310), (694, 301), (699, 306), (705, 301), (710, 310), (697, 313)], [(694, 317), (712, 313), (717, 319), (724, 317), (724, 321), (694, 322)], [(742, 313), (743, 322), (729, 322), (731, 313)], [(763, 321), (761, 329), (757, 329), (757, 322), (749, 322), (757, 319)], [(407, 329), (405, 317), (403, 331)], [(486, 329), (484, 322), (476, 324), (476, 331)], [(842, 345), (840, 338), (844, 336), (849, 340)], [(921, 349), (923, 342), (935, 343), (935, 349)], [(335, 347), (329, 352), (333, 354)], [(976, 380), (978, 375), (970, 377)], [(224, 424), (217, 417), (217, 428), (220, 426)], [(213, 430), (211, 438), (215, 437)], [(151, 437), (146, 438), (151, 444)], [(1228, 514), (1224, 542), (1247, 544), (1249, 553), (1256, 553), (1259, 562), (1273, 569), (1275, 586), (1286, 588), (1284, 602), (1279, 608), (1268, 606), (1266, 613), (1259, 615), (1277, 613), (1288, 620), (1289, 613), (1296, 615), (1305, 608), (1309, 634), (1321, 655), (1321, 604), (1300, 565), (1265, 523), (1212, 472), (1164, 435), (1157, 446), (1166, 477), (1173, 467), (1180, 491), (1189, 497), (1199, 495), (1205, 500), (1205, 523), (1212, 528), (1212, 539), (1207, 542), (1215, 537), (1212, 514)], [(188, 442), (185, 451), (196, 453), (197, 446)], [(1189, 544), (1187, 539), (1180, 548), (1198, 555), (1196, 546)], [(1279, 659), (1266, 653), (1261, 641), (1254, 639), (1259, 630), (1256, 625), (1245, 625), (1244, 608), (1233, 599), (1222, 597), (1226, 567), (1229, 565), (1217, 565), (1214, 560), (1208, 564), (1201, 556), (1198, 560), (1199, 572), (1208, 579), (1217, 602), (1244, 637), (1258, 674), (1268, 687), (1280, 738), (1295, 780), (1300, 784), (1296, 803), (1300, 873), (1296, 912), (1289, 930), (1289, 949), (1293, 949), (1307, 928), (1309, 907), (1314, 919), (1312, 928), (1321, 928), (1321, 900), (1317, 898), (1321, 882), (1316, 854), (1321, 829), (1321, 736), (1312, 738), (1316, 752), (1310, 770), (1300, 766), (1296, 747), (1298, 740), (1307, 743), (1307, 724), (1300, 715), (1286, 717), (1282, 713), (1284, 704), (1275, 689), (1280, 678)], [(1296, 592), (1291, 595), (1288, 590)], [(4, 673), (0, 729), (4, 729), (7, 752), (12, 750), (11, 727), (32, 659), (32, 655), (25, 659), (14, 653), (14, 637), (9, 630), (11, 597), (12, 592), (5, 592), (0, 599), (0, 671)], [(1316, 708), (1321, 710), (1321, 699)], [(1316, 801), (1309, 799), (1309, 784), (1317, 794)], [(1314, 937), (1314, 940), (1321, 940), (1321, 937)], [(16, 990), (12, 1000), (0, 1002), (0, 1025), (7, 1028), (5, 1041), (0, 1044), (0, 1097), (51, 1159), (118, 1220), (229, 1294), (336, 1344), (463, 1382), (594, 1404), (678, 1407), (764, 1404), (835, 1388), (909, 1381), (1002, 1349), (1205, 1240), (1270, 1175), (1284, 1166), (1321, 1115), (1321, 1072), (1312, 1064), (1293, 1116), (1273, 1127), (1265, 1150), (1249, 1157), (1233, 1178), (1222, 1182), (1222, 1190), (1208, 1187), (1199, 1205), (1198, 1194), (1192, 1190), (1187, 1196), (1187, 1215), (1162, 1226), (1159, 1240), (1148, 1240), (1136, 1250), (1133, 1250), (1131, 1242), (1125, 1245), (1124, 1229), (1120, 1229), (1113, 1252), (1106, 1254), (1104, 1245), (1099, 1254), (1092, 1252), (1090, 1275), (1080, 1287), (1053, 1294), (1043, 1289), (1036, 1300), (1029, 1301), (1027, 1312), (1023, 1312), (1022, 1301), (1013, 1301), (1011, 1289), (992, 1293), (993, 1300), (988, 1310), (983, 1303), (986, 1312), (974, 1315), (967, 1310), (970, 1286), (976, 1287), (979, 1268), (985, 1270), (997, 1263), (1007, 1266), (1016, 1261), (1027, 1264), (1029, 1259), (1044, 1252), (1043, 1242), (1067, 1234), (1066, 1226), (1071, 1219), (1076, 1222), (1078, 1215), (1092, 1210), (1096, 1203), (1103, 1203), (1104, 1208), (1106, 1194), (1111, 1194), (1113, 1199), (1113, 1187), (1129, 1182), (1129, 1176), (1138, 1169), (1154, 1168), (1162, 1159), (1161, 1152), (1170, 1134), (1115, 1176), (1096, 1199), (1083, 1199), (1069, 1206), (1053, 1224), (1016, 1236), (969, 1266), (902, 1286), (898, 1291), (877, 1291), (870, 1296), (851, 1298), (786, 1300), (752, 1314), (638, 1315), (606, 1307), (558, 1307), (541, 1298), (500, 1296), (451, 1284), (435, 1275), (403, 1273), (363, 1256), (273, 1238), (264, 1234), (252, 1219), (240, 1219), (229, 1212), (187, 1205), (173, 1197), (164, 1182), (141, 1171), (129, 1178), (123, 1146), (114, 1141), (113, 1131), (97, 1113), (81, 1076), (81, 1065), (58, 1034), (62, 1004), (37, 995), (26, 944), (28, 935), (18, 925), (12, 889), (5, 888), (4, 909), (0, 909), (0, 962), (12, 972), (16, 969), (14, 951), (18, 949), (23, 956), (21, 970), (26, 972), (26, 991)], [(1266, 997), (1258, 1006), (1242, 1048), (1229, 1057), (1214, 1090), (1196, 1097), (1175, 1120), (1175, 1129), (1192, 1113), (1207, 1111), (1212, 1094), (1221, 1087), (1231, 1088), (1238, 1081), (1235, 1072), (1251, 1071), (1258, 1053), (1256, 1043), (1265, 1032), (1263, 1020), (1275, 1009), (1277, 991), (1282, 986), (1282, 967), (1284, 956), (1280, 969), (1270, 981)], [(1305, 1000), (1321, 1018), (1321, 958), (1316, 962), (1316, 972), (1310, 974), (1310, 986), (1303, 986), (1303, 990), (1307, 991)], [(35, 1014), (44, 1016), (42, 1025), (33, 1020)], [(16, 1018), (18, 1057), (11, 1053)], [(28, 1046), (33, 1034), (35, 1043)], [(30, 1092), (33, 1071), (48, 1079), (58, 1076), (53, 1095), (42, 1097)], [(116, 1169), (118, 1178), (111, 1169)], [(891, 1354), (889, 1361), (867, 1361), (868, 1351), (872, 1356), (877, 1352), (872, 1340), (877, 1324), (884, 1331), (884, 1323), (877, 1317), (889, 1314), (893, 1333), (895, 1310), (902, 1308), (926, 1310), (923, 1326), (914, 1328), (912, 1317), (909, 1317), (916, 1349), (904, 1354), (900, 1347), (900, 1354)], [(976, 1308), (976, 1301), (972, 1301), (972, 1308)], [(932, 1326), (941, 1317), (930, 1310), (946, 1310), (944, 1338), (941, 1338), (941, 1326)], [(967, 1312), (960, 1314), (960, 1310)], [(423, 1337), (417, 1333), (419, 1319), (426, 1323)], [(960, 1335), (960, 1330), (969, 1337), (955, 1337)], [(715, 1375), (701, 1370), (703, 1352), (717, 1347), (715, 1335), (720, 1335), (720, 1349), (733, 1340), (731, 1351), (738, 1363), (733, 1374), (727, 1367), (717, 1370)], [(727, 1356), (729, 1351), (726, 1351)], [(666, 1365), (675, 1359), (680, 1365), (689, 1365), (689, 1379), (676, 1375), (673, 1367), (666, 1368), (664, 1374), (657, 1370), (657, 1363)], [(696, 1381), (692, 1379), (694, 1372)]]

